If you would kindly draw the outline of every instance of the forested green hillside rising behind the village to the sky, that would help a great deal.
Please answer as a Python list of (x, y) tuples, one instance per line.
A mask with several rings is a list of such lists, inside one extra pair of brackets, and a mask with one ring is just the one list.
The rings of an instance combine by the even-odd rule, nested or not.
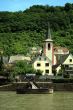
[(41, 46), (50, 22), (55, 45), (73, 53), (73, 4), (32, 6), (25, 11), (0, 12), (0, 49), (5, 55), (26, 54), (33, 46)]

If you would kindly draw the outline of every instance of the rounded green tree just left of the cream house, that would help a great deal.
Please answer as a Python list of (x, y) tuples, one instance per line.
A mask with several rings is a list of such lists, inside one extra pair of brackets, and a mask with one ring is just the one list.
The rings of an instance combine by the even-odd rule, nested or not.
[(32, 65), (26, 61), (17, 61), (12, 70), (14, 76), (36, 73)]

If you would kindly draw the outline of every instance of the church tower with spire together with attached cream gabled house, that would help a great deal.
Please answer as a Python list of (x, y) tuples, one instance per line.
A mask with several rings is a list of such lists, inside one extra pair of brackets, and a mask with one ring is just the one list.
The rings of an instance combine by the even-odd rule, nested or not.
[(50, 28), (48, 28), (47, 39), (43, 41), (43, 48), (40, 55), (33, 60), (33, 67), (41, 70), (43, 75), (52, 74), (53, 65), (53, 40), (51, 39)]

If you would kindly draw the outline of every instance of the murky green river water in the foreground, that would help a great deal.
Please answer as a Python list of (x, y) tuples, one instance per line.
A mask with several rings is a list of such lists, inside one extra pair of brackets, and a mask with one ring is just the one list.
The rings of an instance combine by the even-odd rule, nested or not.
[(0, 110), (73, 110), (73, 93), (22, 95), (0, 92)]

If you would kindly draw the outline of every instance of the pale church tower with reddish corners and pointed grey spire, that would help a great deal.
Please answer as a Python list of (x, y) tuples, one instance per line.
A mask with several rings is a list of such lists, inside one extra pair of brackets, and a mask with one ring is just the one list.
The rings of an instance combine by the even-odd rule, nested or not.
[(51, 39), (50, 26), (48, 23), (47, 39), (44, 41), (44, 54), (50, 59), (53, 65), (53, 40)]

